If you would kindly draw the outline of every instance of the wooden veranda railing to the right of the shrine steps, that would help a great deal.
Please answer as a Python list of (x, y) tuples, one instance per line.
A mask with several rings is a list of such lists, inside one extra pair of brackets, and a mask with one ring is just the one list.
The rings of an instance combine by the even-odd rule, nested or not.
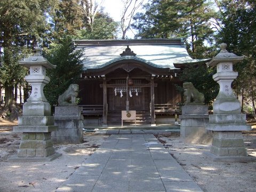
[(180, 107), (175, 104), (155, 104), (156, 115), (175, 115), (180, 113)]

